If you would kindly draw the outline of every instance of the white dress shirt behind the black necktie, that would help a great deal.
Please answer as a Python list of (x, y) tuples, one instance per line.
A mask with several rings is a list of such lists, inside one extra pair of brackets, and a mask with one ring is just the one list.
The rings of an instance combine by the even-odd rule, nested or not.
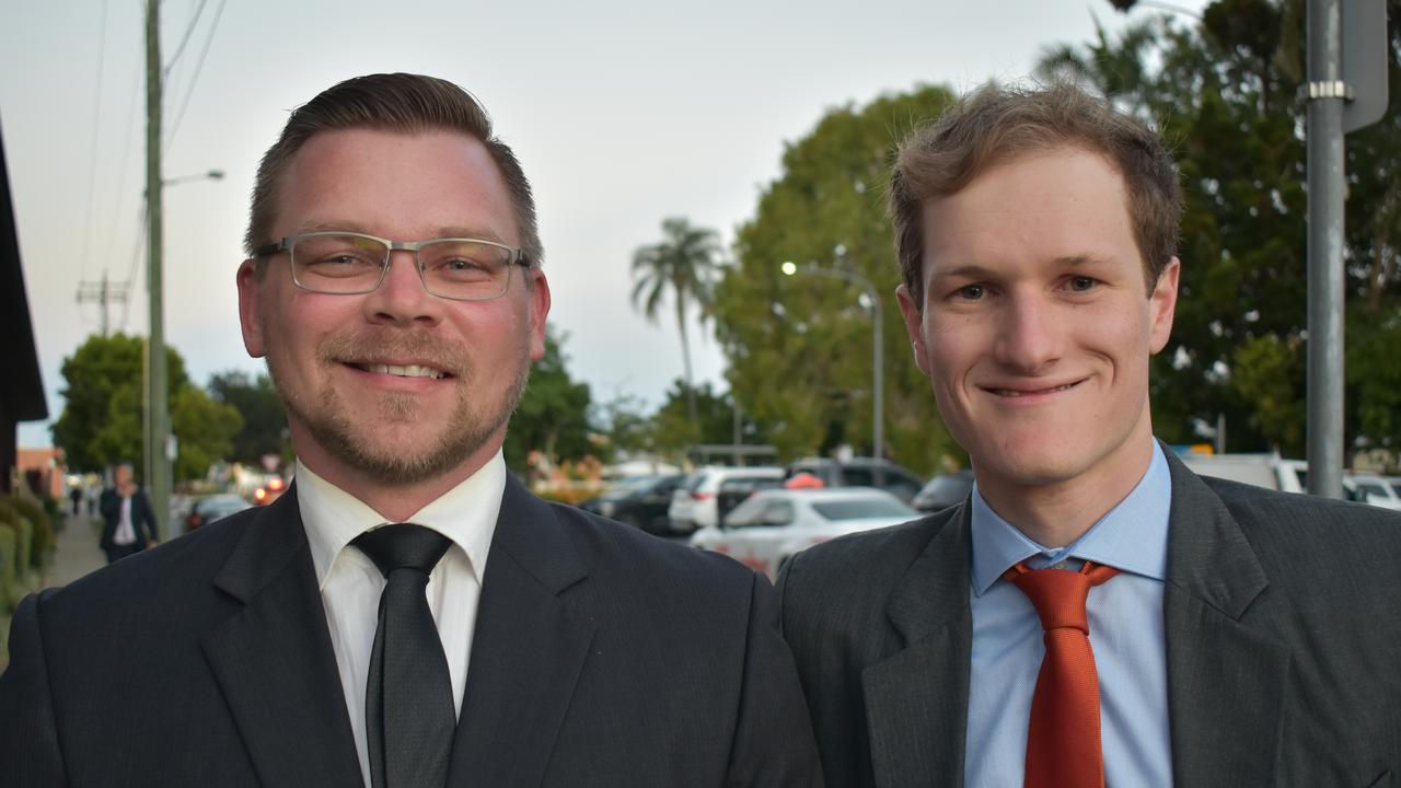
[[(486, 554), (496, 533), (496, 517), (506, 491), (506, 461), (497, 451), (490, 461), (462, 484), (402, 522), (439, 531), (453, 540), (447, 554), (429, 575), (427, 597), (443, 653), (453, 680), (453, 708), (462, 714), (467, 663), (472, 653), (472, 630), (482, 595)], [(370, 785), (370, 750), (364, 729), (364, 691), (370, 674), (370, 651), (378, 625), (384, 575), (350, 540), (387, 524), (382, 515), (297, 466), (297, 505), (311, 543), (311, 561), (326, 610), (331, 646), (340, 672), (360, 774)]]

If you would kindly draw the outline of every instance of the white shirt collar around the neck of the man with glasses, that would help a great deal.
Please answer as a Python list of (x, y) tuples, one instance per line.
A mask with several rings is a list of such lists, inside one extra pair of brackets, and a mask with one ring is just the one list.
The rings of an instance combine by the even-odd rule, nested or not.
[[(300, 461), (296, 480), (297, 506), (311, 545), (317, 586), (321, 587), (340, 551), (354, 537), (391, 520)], [(472, 572), (481, 582), (504, 492), (506, 460), (497, 450), (481, 470), (402, 522), (433, 529), (453, 540), (467, 554)]]

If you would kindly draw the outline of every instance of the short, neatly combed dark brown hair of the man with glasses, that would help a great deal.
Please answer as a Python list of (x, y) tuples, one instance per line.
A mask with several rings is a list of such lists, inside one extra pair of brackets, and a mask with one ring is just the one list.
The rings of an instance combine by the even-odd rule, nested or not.
[[(476, 139), (492, 156), (516, 212), (521, 250), (531, 265), (544, 259), (539, 230), (535, 224), (535, 198), (530, 181), (510, 146), (492, 135), (492, 116), (458, 86), (419, 74), (368, 74), (339, 83), (303, 104), (287, 118), (282, 136), (263, 154), (254, 185), (254, 203), (248, 213), (244, 251), (275, 241), (273, 216), (277, 212), (277, 182), (291, 160), (319, 132), (333, 129), (378, 129), (416, 133), (430, 129), (461, 132)], [(259, 261), (262, 265), (262, 261)]]

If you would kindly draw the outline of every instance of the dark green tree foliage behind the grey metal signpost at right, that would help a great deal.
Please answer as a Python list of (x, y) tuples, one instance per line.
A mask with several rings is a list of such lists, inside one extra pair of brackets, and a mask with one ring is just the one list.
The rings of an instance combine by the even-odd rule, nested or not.
[[(1370, 325), (1398, 301), (1401, 0), (1388, 0), (1388, 15), (1390, 109), (1346, 140), (1348, 310), (1372, 313)], [(1164, 17), (1114, 41), (1101, 29), (1090, 45), (1052, 49), (1041, 62), (1041, 76), (1093, 86), (1156, 122), (1177, 149), (1182, 276), (1173, 338), (1152, 381), (1154, 430), (1167, 440), (1195, 440), (1194, 423), (1224, 414), (1229, 450), (1303, 451), (1307, 107), (1295, 95), (1304, 73), (1303, 0), (1217, 0), (1198, 27)], [(1376, 377), (1388, 365), (1355, 353), (1359, 341), (1383, 339), (1348, 338), (1349, 358), (1372, 360), (1348, 367), (1358, 407), (1346, 430), (1379, 443), (1394, 435), (1383, 414), (1390, 383)]]

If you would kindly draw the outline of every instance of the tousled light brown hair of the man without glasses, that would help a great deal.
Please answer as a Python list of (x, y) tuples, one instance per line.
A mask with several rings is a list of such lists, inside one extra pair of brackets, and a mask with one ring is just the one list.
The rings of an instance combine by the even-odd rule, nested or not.
[(1177, 167), (1152, 129), (1076, 86), (988, 84), (964, 95), (939, 121), (901, 143), (890, 179), (895, 255), (913, 301), (923, 306), (923, 206), (953, 195), (988, 168), (1058, 147), (1104, 156), (1124, 178), (1129, 220), (1149, 289), (1177, 254), (1182, 188)]

